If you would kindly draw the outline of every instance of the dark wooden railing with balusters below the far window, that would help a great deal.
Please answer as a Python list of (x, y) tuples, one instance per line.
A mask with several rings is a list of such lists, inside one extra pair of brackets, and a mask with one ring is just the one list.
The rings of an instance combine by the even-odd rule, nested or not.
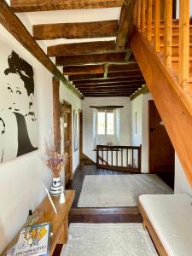
[(142, 146), (96, 146), (96, 166), (98, 168), (141, 172)]

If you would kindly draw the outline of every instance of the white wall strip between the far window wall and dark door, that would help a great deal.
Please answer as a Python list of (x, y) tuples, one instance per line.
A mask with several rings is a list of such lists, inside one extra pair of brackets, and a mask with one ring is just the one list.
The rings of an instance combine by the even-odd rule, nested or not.
[[(131, 144), (142, 144), (142, 172), (148, 173), (148, 101), (150, 93), (141, 94), (131, 101)], [(137, 133), (136, 113), (137, 112)]]

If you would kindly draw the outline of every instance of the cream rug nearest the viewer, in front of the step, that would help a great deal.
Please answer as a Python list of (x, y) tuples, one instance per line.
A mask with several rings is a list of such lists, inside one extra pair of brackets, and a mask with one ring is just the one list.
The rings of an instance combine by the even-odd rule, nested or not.
[(142, 224), (70, 224), (61, 256), (157, 256)]

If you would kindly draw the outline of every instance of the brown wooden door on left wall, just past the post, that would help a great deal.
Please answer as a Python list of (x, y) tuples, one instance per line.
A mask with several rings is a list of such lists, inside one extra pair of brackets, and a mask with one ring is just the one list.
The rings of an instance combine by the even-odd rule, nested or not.
[(72, 105), (68, 102), (62, 104), (62, 117), (64, 119), (64, 152), (68, 154), (68, 162), (65, 166), (65, 183), (73, 178), (73, 154), (72, 154)]

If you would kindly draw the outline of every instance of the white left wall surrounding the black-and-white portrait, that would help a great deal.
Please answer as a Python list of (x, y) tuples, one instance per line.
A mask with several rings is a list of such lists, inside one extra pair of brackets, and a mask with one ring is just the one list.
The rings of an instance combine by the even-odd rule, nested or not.
[(44, 198), (43, 183), (48, 187), (51, 183), (51, 174), (42, 160), (44, 140), (52, 143), (49, 133), (52, 130), (52, 76), (0, 26), (0, 45), (4, 44), (10, 50), (15, 50), (34, 69), (39, 149), (0, 164), (0, 253), (26, 222), (28, 210), (34, 210)]

